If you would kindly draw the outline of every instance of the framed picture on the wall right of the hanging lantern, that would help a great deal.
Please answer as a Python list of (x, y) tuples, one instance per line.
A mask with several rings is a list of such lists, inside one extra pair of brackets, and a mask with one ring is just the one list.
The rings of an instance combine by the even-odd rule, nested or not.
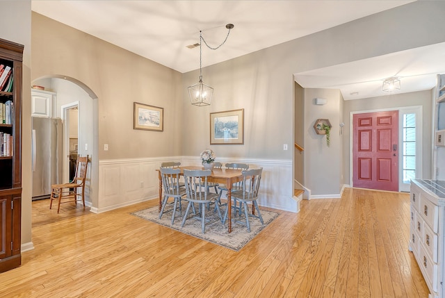
[(210, 113), (210, 144), (244, 144), (244, 109)]

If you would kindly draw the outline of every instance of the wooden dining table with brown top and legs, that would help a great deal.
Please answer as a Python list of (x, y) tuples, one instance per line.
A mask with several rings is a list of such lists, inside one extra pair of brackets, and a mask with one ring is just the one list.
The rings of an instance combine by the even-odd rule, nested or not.
[[(184, 176), (184, 169), (204, 169), (195, 165), (186, 165), (184, 167), (178, 167), (181, 169), (180, 175)], [(156, 169), (159, 174), (159, 212), (162, 208), (162, 176), (161, 171)], [(243, 181), (242, 169), (220, 169), (213, 168), (211, 175), (207, 176), (207, 182), (225, 184), (227, 188), (227, 228), (229, 233), (232, 233), (232, 185), (236, 182)]]

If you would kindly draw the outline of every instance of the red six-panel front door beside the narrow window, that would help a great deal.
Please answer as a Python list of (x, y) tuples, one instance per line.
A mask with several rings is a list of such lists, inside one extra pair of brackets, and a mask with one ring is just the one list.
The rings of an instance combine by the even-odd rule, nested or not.
[(353, 186), (398, 191), (398, 111), (353, 117)]

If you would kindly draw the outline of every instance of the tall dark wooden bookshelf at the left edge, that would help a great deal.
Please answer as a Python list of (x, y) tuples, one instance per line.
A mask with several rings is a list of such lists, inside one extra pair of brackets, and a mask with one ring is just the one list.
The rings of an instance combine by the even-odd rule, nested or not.
[(22, 44), (0, 39), (0, 65), (12, 69), (12, 92), (0, 91), (0, 103), (10, 101), (10, 124), (0, 132), (12, 135), (8, 156), (0, 156), (0, 272), (22, 263)]

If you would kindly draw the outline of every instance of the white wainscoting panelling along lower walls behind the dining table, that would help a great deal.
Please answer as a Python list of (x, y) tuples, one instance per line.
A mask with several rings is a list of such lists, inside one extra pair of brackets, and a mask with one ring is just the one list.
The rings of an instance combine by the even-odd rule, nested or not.
[[(158, 172), (161, 163), (180, 161), (181, 165), (200, 165), (197, 157), (133, 158), (99, 160), (99, 200), (92, 212), (159, 198)], [(297, 213), (299, 202), (293, 199), (291, 160), (257, 160), (218, 158), (223, 163), (248, 163), (250, 168), (263, 167), (259, 205)]]

